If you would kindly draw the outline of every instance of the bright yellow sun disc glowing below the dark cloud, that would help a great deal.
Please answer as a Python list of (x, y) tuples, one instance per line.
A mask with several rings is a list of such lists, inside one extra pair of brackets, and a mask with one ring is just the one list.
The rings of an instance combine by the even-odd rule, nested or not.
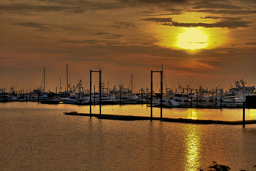
[(177, 46), (187, 50), (204, 48), (207, 45), (207, 36), (197, 28), (184, 28), (185, 32), (179, 35)]

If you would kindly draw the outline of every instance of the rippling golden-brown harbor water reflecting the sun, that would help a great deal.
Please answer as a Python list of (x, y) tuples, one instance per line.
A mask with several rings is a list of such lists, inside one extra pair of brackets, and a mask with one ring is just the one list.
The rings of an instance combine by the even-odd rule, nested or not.
[[(92, 109), (98, 113), (97, 106)], [(208, 170), (212, 161), (253, 170), (256, 165), (256, 125), (63, 114), (70, 111), (87, 113), (89, 106), (0, 103), (1, 170)], [(102, 106), (102, 113), (150, 116), (150, 108)], [(164, 109), (163, 117), (242, 120), (242, 109)], [(246, 110), (246, 119), (256, 119), (256, 110)]]

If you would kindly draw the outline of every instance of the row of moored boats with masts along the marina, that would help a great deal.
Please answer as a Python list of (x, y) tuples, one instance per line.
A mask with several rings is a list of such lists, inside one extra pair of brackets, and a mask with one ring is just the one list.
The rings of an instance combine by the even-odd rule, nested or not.
[[(98, 85), (92, 87), (92, 73), (98, 72)], [(153, 87), (153, 73), (160, 72), (161, 83), (159, 92), (154, 91)], [(190, 107), (190, 108), (242, 108), (245, 104), (246, 108), (256, 108), (256, 89), (255, 86), (246, 86), (247, 82), (243, 79), (240, 81), (234, 81), (234, 85), (230, 82), (228, 89), (224, 91), (221, 84), (219, 87), (210, 89), (199, 86), (194, 89), (197, 83), (190, 87), (187, 85), (185, 88), (180, 85), (176, 89), (164, 87), (163, 69), (160, 71), (151, 71), (151, 87), (143, 87), (140, 90), (133, 89), (133, 75), (131, 77), (131, 85), (128, 88), (124, 88), (122, 84), (119, 88), (113, 86), (110, 88), (109, 84), (105, 87), (105, 84), (101, 81), (101, 70), (90, 70), (90, 89), (83, 87), (82, 81), (73, 88), (69, 84), (68, 79), (68, 65), (67, 65), (67, 88), (65, 91), (55, 92), (49, 90), (45, 91), (45, 70), (42, 77), (41, 86), (38, 89), (28, 92), (28, 90), (15, 91), (14, 87), (11, 87), (9, 92), (6, 92), (5, 88), (0, 89), (0, 102), (37, 102), (45, 104), (75, 104), (75, 105), (124, 105), (124, 104), (147, 104), (152, 107)], [(43, 81), (44, 80), (44, 81)], [(165, 81), (166, 84), (166, 81)], [(190, 83), (191, 84), (191, 83)], [(246, 99), (247, 97), (247, 99)]]

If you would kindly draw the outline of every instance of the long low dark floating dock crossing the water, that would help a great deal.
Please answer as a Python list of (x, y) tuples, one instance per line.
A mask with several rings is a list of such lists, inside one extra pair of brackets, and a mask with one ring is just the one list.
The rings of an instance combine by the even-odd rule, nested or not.
[(187, 119), (187, 118), (168, 118), (168, 117), (150, 117), (150, 116), (132, 116), (132, 115), (114, 115), (114, 114), (90, 114), (90, 113), (78, 113), (78, 112), (64, 112), (65, 115), (75, 116), (91, 116), (98, 119), (112, 119), (112, 120), (160, 120), (173, 123), (190, 123), (190, 124), (221, 124), (221, 125), (244, 125), (244, 124), (256, 124), (256, 120), (237, 120), (237, 121), (225, 121), (225, 120), (203, 120), (203, 119)]

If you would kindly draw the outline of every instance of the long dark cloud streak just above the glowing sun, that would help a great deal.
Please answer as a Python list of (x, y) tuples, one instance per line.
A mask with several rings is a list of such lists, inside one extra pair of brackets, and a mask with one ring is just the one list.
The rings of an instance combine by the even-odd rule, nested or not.
[(246, 28), (249, 27), (248, 21), (241, 21), (239, 19), (234, 20), (224, 20), (215, 23), (180, 23), (177, 21), (173, 21), (172, 18), (144, 18), (142, 20), (145, 21), (154, 21), (154, 22), (161, 22), (163, 26), (174, 26), (174, 27), (204, 27), (204, 28), (229, 28), (229, 29), (236, 29), (236, 28)]

